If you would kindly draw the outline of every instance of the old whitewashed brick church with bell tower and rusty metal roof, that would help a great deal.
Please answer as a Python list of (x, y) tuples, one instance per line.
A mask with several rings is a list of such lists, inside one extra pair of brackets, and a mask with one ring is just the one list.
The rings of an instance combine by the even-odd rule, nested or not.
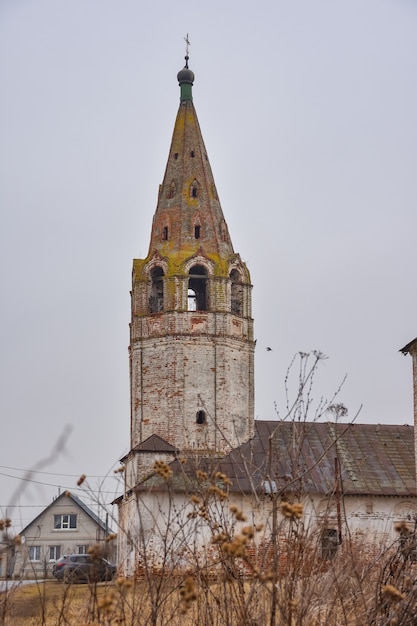
[[(133, 261), (120, 571), (208, 563), (219, 529), (243, 522), (267, 549), (286, 510), (316, 533), (323, 558), (347, 534), (363, 549), (370, 533), (391, 540), (398, 523), (414, 531), (413, 427), (343, 423), (341, 406), (315, 421), (254, 418), (251, 279), (232, 245), (185, 61), (149, 252)], [(417, 340), (403, 352), (416, 372)], [(314, 368), (320, 355), (311, 358)]]

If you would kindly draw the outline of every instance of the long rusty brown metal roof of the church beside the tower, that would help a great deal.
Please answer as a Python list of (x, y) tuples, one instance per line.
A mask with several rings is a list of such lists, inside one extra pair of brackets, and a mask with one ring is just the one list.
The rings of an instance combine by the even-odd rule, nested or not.
[[(227, 456), (176, 460), (174, 485), (190, 487), (197, 467), (220, 471), (231, 489), (346, 495), (415, 496), (414, 429), (386, 424), (255, 421), (255, 435)], [(337, 481), (338, 479), (338, 481)], [(154, 476), (138, 486), (161, 487)]]

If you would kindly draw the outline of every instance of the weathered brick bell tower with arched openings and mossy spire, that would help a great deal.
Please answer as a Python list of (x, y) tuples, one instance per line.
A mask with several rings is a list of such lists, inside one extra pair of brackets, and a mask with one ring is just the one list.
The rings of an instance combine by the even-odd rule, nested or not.
[(149, 252), (133, 261), (130, 461), (151, 449), (223, 455), (253, 435), (252, 287), (233, 251), (185, 61)]

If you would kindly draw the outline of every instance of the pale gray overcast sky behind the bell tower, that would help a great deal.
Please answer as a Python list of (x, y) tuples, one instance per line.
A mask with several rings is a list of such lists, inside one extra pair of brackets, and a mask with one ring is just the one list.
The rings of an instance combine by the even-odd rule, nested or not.
[[(317, 349), (317, 399), (347, 374), (351, 419), (363, 405), (359, 422), (412, 423), (398, 350), (417, 335), (414, 0), (1, 0), (0, 516), (18, 489), (16, 530), (128, 450), (131, 264), (187, 32), (254, 285), (256, 416), (275, 418), (292, 356)], [(38, 482), (17, 480), (43, 461)]]

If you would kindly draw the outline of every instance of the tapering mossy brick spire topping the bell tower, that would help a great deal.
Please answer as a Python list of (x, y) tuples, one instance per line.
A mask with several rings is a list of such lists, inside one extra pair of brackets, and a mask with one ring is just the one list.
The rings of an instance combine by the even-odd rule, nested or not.
[[(188, 52), (187, 43), (187, 52)], [(233, 246), (192, 100), (194, 73), (178, 72), (180, 106), (152, 226), (149, 255), (173, 254), (177, 261), (201, 249), (216, 260), (233, 254)]]

